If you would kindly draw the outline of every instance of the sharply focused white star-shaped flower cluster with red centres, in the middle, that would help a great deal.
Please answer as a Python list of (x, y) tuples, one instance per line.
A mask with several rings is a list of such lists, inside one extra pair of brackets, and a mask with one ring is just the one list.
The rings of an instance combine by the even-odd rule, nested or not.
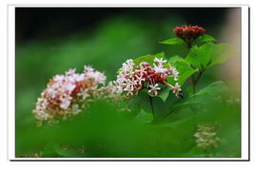
[[(162, 58), (154, 58), (153, 66), (149, 66), (147, 62), (141, 62), (139, 66), (135, 66), (133, 60), (129, 59), (119, 69), (116, 85), (118, 91), (127, 92), (127, 96), (131, 97), (143, 88), (148, 89), (148, 93), (158, 95), (161, 90), (159, 84), (168, 85), (173, 93), (179, 97), (181, 86), (179, 83), (169, 85), (167, 78), (172, 77), (174, 81), (178, 81), (179, 72), (174, 66), (167, 64)], [(165, 67), (165, 66), (166, 67)], [(145, 86), (146, 85), (146, 86)]]

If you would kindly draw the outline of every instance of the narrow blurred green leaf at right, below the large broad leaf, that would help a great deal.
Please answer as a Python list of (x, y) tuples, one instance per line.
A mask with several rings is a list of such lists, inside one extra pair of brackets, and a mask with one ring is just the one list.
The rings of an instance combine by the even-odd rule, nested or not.
[(214, 96), (216, 94), (220, 94), (223, 91), (226, 91), (228, 88), (226, 86), (226, 84), (222, 81), (217, 81), (214, 82), (210, 85), (207, 85), (207, 87), (201, 89), (199, 92), (197, 92), (196, 94), (192, 95), (193, 96), (199, 96), (199, 95), (210, 95), (210, 96)]

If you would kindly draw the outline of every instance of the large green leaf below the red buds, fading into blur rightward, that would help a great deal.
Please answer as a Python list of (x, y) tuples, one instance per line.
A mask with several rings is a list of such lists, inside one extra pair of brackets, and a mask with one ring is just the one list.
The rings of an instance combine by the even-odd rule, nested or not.
[(191, 47), (186, 61), (192, 66), (204, 70), (209, 66), (226, 62), (229, 57), (233, 56), (232, 54), (233, 52), (229, 45), (207, 43), (201, 47)]

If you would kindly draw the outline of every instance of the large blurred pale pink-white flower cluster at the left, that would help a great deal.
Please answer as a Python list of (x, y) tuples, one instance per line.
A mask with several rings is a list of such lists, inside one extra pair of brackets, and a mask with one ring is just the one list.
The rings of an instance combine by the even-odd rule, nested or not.
[(115, 88), (112, 83), (105, 86), (103, 73), (90, 66), (84, 68), (81, 74), (69, 69), (65, 75), (56, 75), (49, 81), (32, 111), (39, 122), (76, 115), (95, 99), (115, 97)]

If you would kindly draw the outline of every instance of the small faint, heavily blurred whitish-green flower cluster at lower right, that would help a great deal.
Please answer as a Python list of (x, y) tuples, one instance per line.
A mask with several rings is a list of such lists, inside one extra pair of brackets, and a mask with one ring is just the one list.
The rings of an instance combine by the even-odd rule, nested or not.
[(221, 138), (217, 136), (218, 129), (216, 124), (213, 123), (201, 123), (198, 124), (198, 130), (194, 134), (196, 138), (197, 146), (203, 149), (209, 149), (217, 147), (220, 142), (223, 142)]

